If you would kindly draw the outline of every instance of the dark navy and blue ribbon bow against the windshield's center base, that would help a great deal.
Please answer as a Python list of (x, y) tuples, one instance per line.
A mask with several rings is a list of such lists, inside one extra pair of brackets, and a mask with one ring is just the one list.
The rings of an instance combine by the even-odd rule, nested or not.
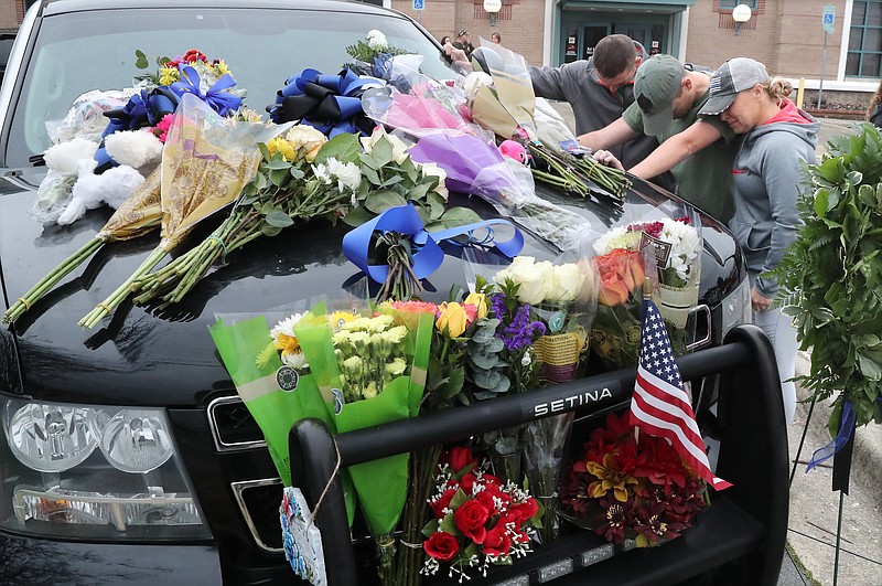
[(267, 111), (276, 124), (300, 121), (329, 137), (341, 132), (369, 135), (374, 122), (362, 108), (362, 94), (384, 85), (375, 77), (358, 77), (351, 70), (324, 75), (306, 68), (289, 77)]

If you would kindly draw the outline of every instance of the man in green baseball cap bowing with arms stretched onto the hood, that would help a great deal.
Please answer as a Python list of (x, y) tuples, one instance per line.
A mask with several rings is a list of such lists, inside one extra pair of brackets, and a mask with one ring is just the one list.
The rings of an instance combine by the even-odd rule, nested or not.
[(634, 104), (605, 128), (581, 135), (579, 142), (593, 149), (599, 161), (622, 168), (607, 149), (635, 136), (658, 138), (662, 146), (628, 171), (648, 179), (669, 170), (678, 195), (728, 222), (734, 213), (732, 161), (738, 146), (718, 116), (698, 117), (710, 96), (711, 73), (670, 55), (654, 55), (637, 70)]

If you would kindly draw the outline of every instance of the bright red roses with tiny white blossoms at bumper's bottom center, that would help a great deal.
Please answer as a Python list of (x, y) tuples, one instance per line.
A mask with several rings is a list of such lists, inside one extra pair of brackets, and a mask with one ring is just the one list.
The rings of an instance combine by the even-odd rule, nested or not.
[(429, 499), (434, 519), (422, 530), (428, 537), (422, 574), (449, 563), (449, 576), (459, 574), (461, 582), (469, 579), (470, 567), (486, 577), (491, 564), (510, 564), (533, 551), (541, 512), (529, 492), (485, 473), (467, 448), (452, 449), (439, 466), (437, 492)]

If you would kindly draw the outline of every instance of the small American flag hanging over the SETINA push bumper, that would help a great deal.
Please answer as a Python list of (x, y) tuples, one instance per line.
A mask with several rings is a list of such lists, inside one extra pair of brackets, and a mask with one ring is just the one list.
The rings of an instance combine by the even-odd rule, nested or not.
[(732, 486), (713, 476), (710, 469), (704, 440), (698, 430), (689, 396), (682, 388), (668, 332), (658, 308), (648, 299), (643, 302), (641, 360), (631, 399), (631, 425), (670, 441), (689, 468), (714, 489)]

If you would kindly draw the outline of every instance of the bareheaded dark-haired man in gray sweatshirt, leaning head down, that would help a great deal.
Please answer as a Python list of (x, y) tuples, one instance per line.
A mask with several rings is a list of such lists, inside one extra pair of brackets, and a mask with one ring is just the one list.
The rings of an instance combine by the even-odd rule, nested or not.
[[(634, 74), (647, 58), (643, 45), (625, 34), (604, 36), (588, 60), (559, 67), (530, 67), (537, 96), (569, 102), (576, 134), (600, 130), (619, 119), (634, 103)], [(613, 150), (625, 169), (637, 164), (656, 147), (655, 137), (638, 136)]]

